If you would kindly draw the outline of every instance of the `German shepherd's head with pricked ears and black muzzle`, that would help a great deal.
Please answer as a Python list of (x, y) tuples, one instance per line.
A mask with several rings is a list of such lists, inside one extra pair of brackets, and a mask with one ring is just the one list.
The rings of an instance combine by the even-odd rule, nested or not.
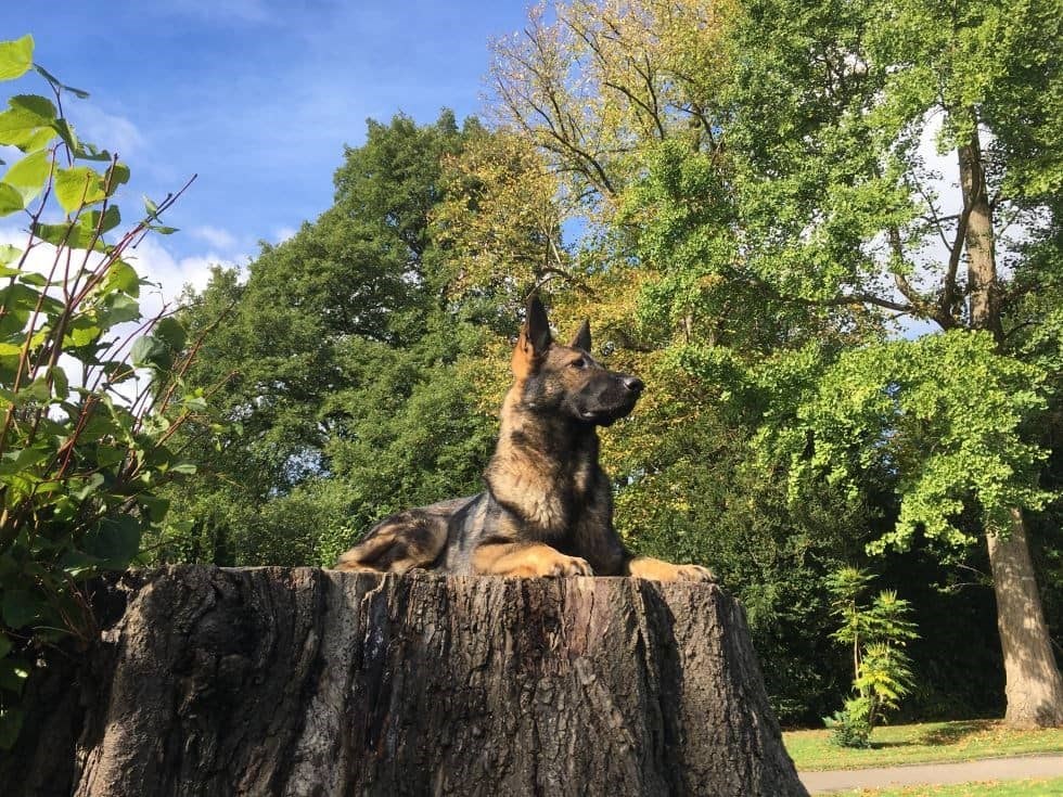
[(528, 301), (524, 329), (513, 350), (513, 374), (525, 408), (598, 426), (627, 415), (644, 387), (638, 376), (609, 371), (590, 356), (590, 324), (586, 321), (567, 346), (554, 343), (538, 297)]

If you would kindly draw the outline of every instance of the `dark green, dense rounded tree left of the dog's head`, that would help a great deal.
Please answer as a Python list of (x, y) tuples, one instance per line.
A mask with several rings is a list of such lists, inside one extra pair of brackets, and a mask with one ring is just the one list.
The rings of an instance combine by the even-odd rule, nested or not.
[(448, 300), (430, 229), (465, 138), (450, 112), (370, 120), (334, 206), (194, 297), (193, 329), (232, 308), (192, 378), (242, 434), (189, 437), (213, 467), (175, 494), (194, 532), (161, 555), (331, 564), (379, 515), (476, 489), (490, 414), (470, 358), (491, 335)]

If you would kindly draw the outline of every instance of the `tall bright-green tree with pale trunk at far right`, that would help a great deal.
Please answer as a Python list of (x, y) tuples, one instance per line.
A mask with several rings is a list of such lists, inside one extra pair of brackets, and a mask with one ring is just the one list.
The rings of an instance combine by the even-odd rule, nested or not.
[[(862, 373), (866, 389), (896, 391), (885, 428), (904, 432), (882, 448), (904, 449), (898, 462), (918, 453), (907, 462), (892, 541), (907, 544), (917, 527), (947, 539), (965, 501), (981, 510), (1007, 719), (1016, 725), (1063, 723), (1063, 681), (1024, 518), (1045, 498), (1041, 452), (1020, 426), (1042, 410), (1043, 375), (1011, 345), (1009, 323), (1028, 290), (1013, 272), (1030, 248), (1009, 228), (1051, 248), (1059, 223), (1051, 201), (1063, 179), (1058, 12), (1052, 2), (757, 2), (738, 33), (759, 47), (735, 83), (745, 111), (734, 126), (742, 182), (781, 189), (766, 209), (791, 204), (791, 192), (802, 200), (796, 223), (755, 217), (782, 242), (755, 247), (765, 273), (779, 284), (785, 269), (766, 259), (789, 255), (783, 262), (816, 263), (829, 275), (828, 301), (860, 301), (955, 331), (867, 355), (882, 358), (876, 372), (885, 378), (849, 373)], [(927, 167), (930, 146), (951, 155), (951, 181)], [(1059, 249), (1048, 258), (1058, 272)], [(853, 359), (838, 370), (848, 365)]]

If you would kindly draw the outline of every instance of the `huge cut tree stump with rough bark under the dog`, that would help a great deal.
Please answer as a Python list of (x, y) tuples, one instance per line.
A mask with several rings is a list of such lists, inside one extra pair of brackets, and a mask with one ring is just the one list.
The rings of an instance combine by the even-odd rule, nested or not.
[(188, 566), (121, 595), (31, 679), (4, 795), (805, 794), (715, 586)]

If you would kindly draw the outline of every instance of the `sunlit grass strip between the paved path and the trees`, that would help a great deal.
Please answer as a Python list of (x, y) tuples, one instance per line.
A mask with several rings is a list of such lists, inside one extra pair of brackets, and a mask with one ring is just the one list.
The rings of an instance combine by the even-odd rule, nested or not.
[[(783, 734), (786, 750), (799, 770), (894, 767), (930, 761), (970, 761), (975, 758), (1022, 756), (1063, 751), (1063, 729), (1009, 731), (998, 720), (927, 722), (919, 725), (886, 725), (871, 735), (871, 749), (857, 750), (831, 744), (831, 732), (790, 731)], [(883, 793), (887, 794), (887, 793)], [(915, 795), (920, 792), (889, 792)], [(927, 794), (937, 795), (937, 792)], [(940, 792), (952, 795), (951, 792)], [(955, 794), (966, 794), (956, 792)], [(979, 793), (981, 794), (981, 793)], [(997, 794), (996, 792), (991, 794)], [(1001, 795), (1012, 794), (1000, 792)], [(1014, 794), (1041, 794), (1015, 792)], [(1063, 792), (1043, 792), (1060, 794)]]

